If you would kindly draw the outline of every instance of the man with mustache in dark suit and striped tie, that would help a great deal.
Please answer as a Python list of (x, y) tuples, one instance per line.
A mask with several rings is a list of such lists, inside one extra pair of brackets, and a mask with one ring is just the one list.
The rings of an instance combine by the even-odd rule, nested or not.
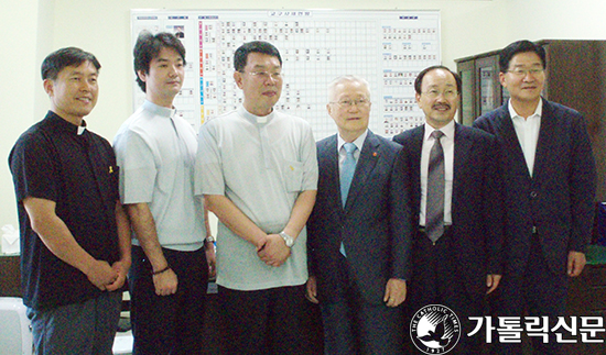
[(429, 67), (414, 89), (425, 124), (393, 138), (402, 145), (393, 179), (404, 181), (412, 210), (408, 315), (428, 304), (448, 307), (462, 323), (454, 353), (479, 354), (480, 337), (467, 337), (475, 325), (468, 317), (483, 315), (486, 295), (501, 278), (499, 154), (494, 136), (454, 122), (458, 75)]

